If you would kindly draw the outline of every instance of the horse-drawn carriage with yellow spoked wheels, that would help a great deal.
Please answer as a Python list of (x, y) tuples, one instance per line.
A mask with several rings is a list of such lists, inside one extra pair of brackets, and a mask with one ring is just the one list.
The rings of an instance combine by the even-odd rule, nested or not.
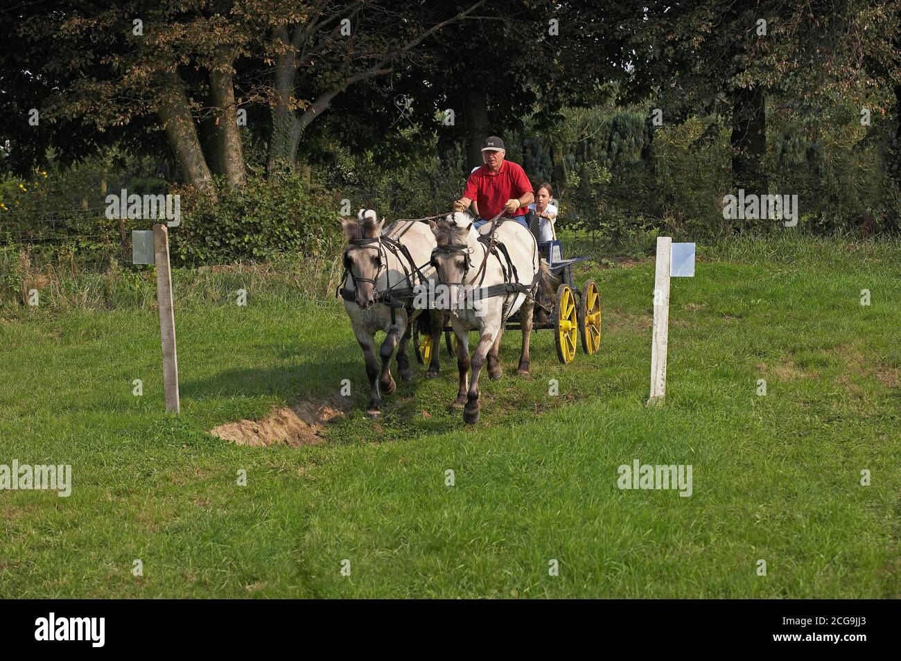
[[(576, 285), (572, 267), (589, 257), (564, 258), (563, 243), (552, 233), (551, 240), (539, 240), (539, 220), (534, 212), (529, 215), (529, 228), (535, 240), (542, 263), (554, 276), (554, 291), (540, 287), (535, 301), (532, 329), (553, 329), (557, 347), (557, 358), (564, 365), (576, 357), (576, 345), (580, 341), (582, 350), (589, 356), (596, 353), (601, 344), (601, 297), (594, 280), (586, 280), (581, 289)], [(551, 226), (552, 227), (552, 226)], [(505, 331), (522, 329), (520, 312), (512, 315), (504, 325)], [(432, 335), (429, 320), (420, 316), (414, 324), (414, 349), (416, 360), (428, 364), (432, 358)], [(450, 326), (444, 328), (444, 343), (448, 353), (456, 356), (456, 338)]]

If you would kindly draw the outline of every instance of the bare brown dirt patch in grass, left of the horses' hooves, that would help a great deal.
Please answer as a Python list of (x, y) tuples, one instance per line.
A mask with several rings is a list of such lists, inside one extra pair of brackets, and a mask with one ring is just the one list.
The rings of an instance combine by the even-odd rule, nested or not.
[(344, 414), (346, 397), (301, 402), (271, 412), (262, 420), (239, 420), (220, 425), (210, 433), (238, 445), (264, 448), (286, 443), (292, 448), (321, 443), (323, 424)]

